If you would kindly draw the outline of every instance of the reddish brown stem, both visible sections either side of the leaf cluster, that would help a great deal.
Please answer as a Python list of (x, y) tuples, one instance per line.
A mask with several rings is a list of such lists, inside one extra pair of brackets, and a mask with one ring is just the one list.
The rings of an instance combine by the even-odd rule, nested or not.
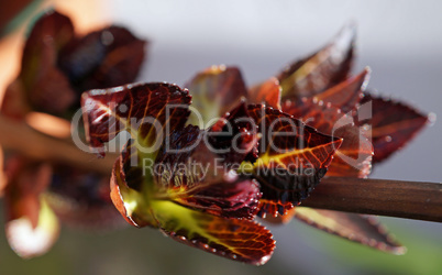
[[(96, 160), (71, 142), (42, 134), (0, 116), (0, 144), (29, 157), (110, 175), (115, 155)], [(302, 206), (442, 222), (442, 184), (324, 178)]]

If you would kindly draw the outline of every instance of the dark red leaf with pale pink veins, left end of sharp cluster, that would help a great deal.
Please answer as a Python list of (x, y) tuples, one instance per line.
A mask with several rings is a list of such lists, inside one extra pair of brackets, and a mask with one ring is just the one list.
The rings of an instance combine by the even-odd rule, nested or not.
[(184, 125), (190, 100), (187, 90), (165, 82), (85, 92), (81, 106), (89, 144), (95, 152), (104, 155), (103, 143), (128, 130), (133, 139), (137, 139), (137, 146), (153, 153), (166, 131), (172, 133)]

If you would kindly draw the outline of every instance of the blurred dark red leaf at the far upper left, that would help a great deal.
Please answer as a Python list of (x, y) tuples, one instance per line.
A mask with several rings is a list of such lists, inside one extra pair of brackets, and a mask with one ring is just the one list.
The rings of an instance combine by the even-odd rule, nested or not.
[(20, 75), (7, 89), (2, 113), (20, 119), (31, 110), (60, 114), (74, 102), (69, 81), (56, 67), (57, 52), (73, 37), (73, 23), (60, 13), (49, 11), (36, 21)]

